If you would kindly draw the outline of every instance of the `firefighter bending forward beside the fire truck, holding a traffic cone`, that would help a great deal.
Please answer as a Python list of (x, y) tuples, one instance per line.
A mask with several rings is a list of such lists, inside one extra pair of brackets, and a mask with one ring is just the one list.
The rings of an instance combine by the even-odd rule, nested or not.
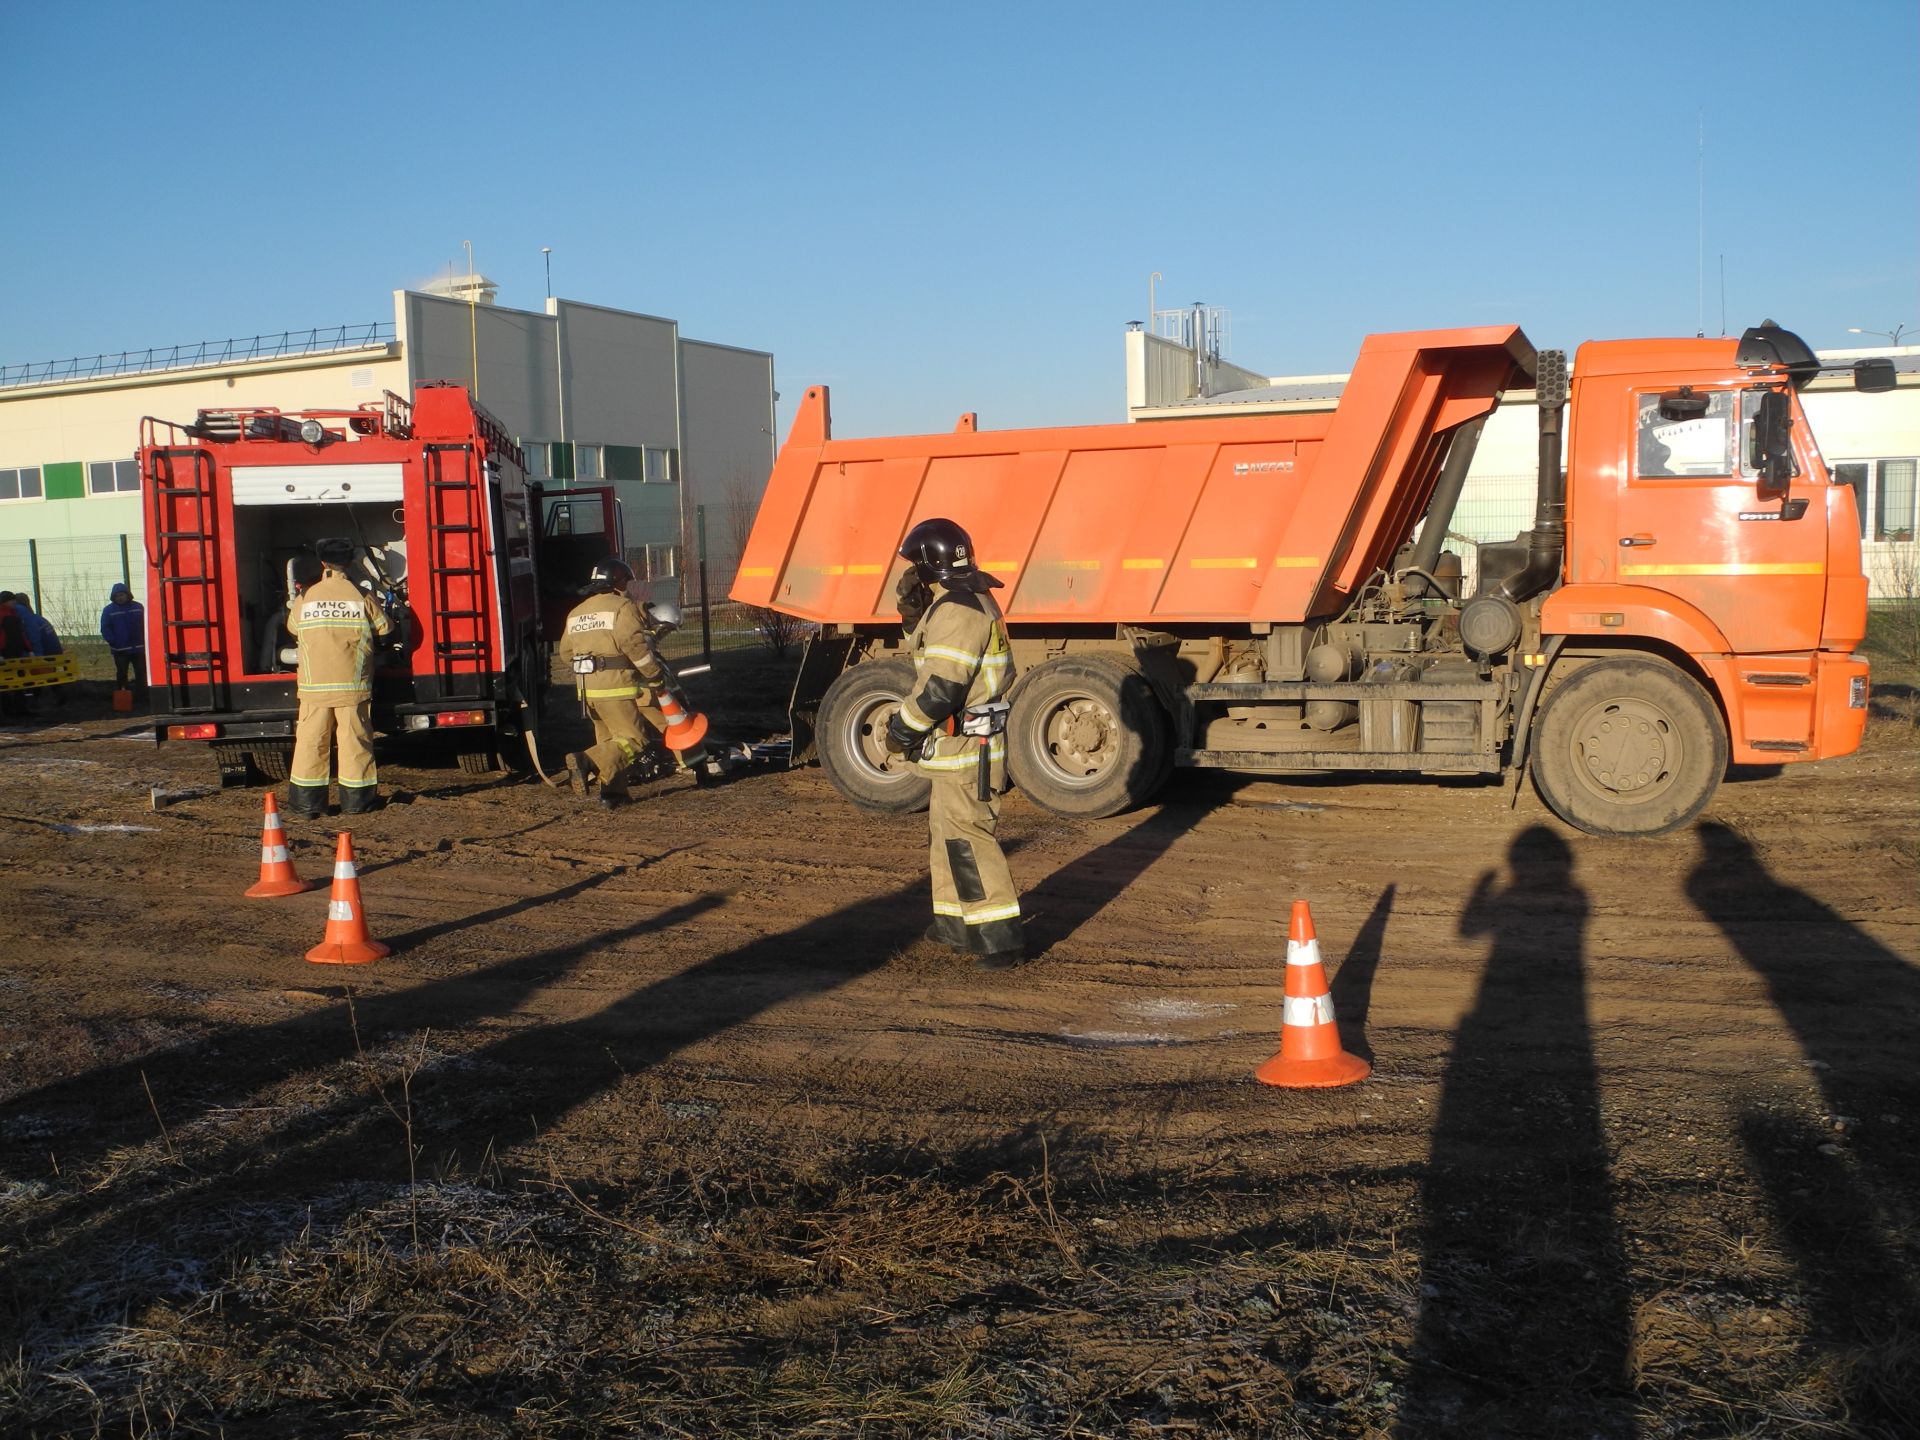
[(641, 707), (651, 707), (653, 691), (670, 684), (647, 622), (626, 593), (630, 584), (634, 570), (618, 555), (595, 564), (588, 597), (566, 616), (561, 636), (561, 659), (572, 666), (593, 720), (593, 747), (568, 755), (566, 772), (580, 799), (597, 778), (609, 810), (628, 799), (628, 770), (647, 751), (653, 726)]

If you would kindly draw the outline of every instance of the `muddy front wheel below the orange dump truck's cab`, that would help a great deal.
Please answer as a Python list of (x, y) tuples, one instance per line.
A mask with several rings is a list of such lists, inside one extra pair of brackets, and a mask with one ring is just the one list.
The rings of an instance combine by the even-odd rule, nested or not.
[(1588, 664), (1540, 710), (1534, 787), (1553, 814), (1590, 835), (1680, 829), (1726, 774), (1720, 712), (1665, 660)]

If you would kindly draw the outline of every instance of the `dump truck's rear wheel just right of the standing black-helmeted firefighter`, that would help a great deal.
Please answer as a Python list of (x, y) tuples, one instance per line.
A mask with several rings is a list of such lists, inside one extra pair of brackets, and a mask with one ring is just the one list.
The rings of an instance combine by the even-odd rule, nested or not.
[(1167, 714), (1146, 676), (1112, 655), (1064, 655), (1014, 691), (1006, 762), (1043, 810), (1098, 820), (1165, 780)]

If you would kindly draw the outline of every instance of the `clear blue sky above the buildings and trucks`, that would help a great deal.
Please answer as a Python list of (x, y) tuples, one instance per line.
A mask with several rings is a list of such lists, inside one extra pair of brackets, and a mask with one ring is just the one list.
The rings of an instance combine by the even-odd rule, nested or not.
[(1722, 255), (1734, 332), (1920, 324), (1912, 0), (0, 0), (0, 52), (12, 363), (392, 319), (463, 240), (843, 434), (1121, 419), (1152, 271), (1269, 372), (1716, 334)]

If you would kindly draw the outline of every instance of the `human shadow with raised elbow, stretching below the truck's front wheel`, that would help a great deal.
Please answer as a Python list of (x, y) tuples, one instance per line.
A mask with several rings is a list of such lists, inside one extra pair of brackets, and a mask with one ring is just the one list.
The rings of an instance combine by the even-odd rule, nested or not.
[(1492, 935), (1442, 1077), (1421, 1187), (1421, 1311), (1396, 1434), (1632, 1436), (1626, 1265), (1613, 1221), (1572, 852), (1521, 831), (1480, 876)]

